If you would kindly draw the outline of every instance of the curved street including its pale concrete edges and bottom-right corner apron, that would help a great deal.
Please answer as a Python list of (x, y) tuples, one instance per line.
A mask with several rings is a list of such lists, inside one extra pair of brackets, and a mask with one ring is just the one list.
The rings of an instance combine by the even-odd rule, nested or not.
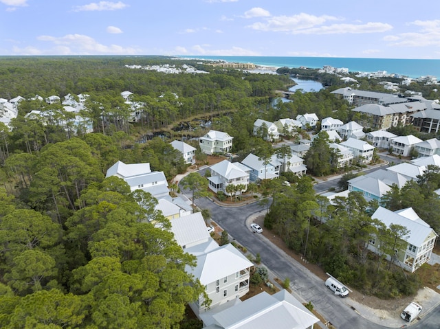
[[(332, 181), (333, 184), (337, 180)], [(320, 185), (320, 184), (317, 184)], [(188, 191), (182, 191), (190, 198)], [(265, 205), (259, 202), (249, 203), (236, 207), (225, 207), (214, 203), (210, 198), (199, 198), (195, 204), (200, 209), (209, 209), (212, 220), (228, 231), (232, 240), (248, 249), (254, 256), (259, 253), (263, 266), (272, 273), (272, 276), (284, 280), (289, 277), (293, 295), (300, 302), (311, 302), (318, 313), (338, 329), (367, 329), (367, 328), (402, 328), (409, 326), (400, 318), (380, 319), (373, 315), (369, 308), (356, 304), (347, 298), (340, 298), (329, 293), (324, 281), (311, 273), (300, 262), (289, 257), (283, 250), (272, 244), (261, 234), (253, 234), (249, 223), (254, 216), (261, 216), (266, 211)], [(440, 295), (439, 295), (440, 296)], [(430, 312), (416, 323), (410, 324), (412, 328), (421, 329), (439, 328), (440, 323), (440, 297), (432, 301)], [(375, 321), (376, 320), (376, 321)]]

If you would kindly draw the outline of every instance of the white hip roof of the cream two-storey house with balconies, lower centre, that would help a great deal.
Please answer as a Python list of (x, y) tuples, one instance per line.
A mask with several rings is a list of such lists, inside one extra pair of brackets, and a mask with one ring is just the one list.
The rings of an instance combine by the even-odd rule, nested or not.
[[(208, 233), (207, 229), (206, 233)], [(223, 245), (198, 256), (197, 265), (195, 267), (188, 266), (186, 271), (199, 279), (201, 284), (206, 285), (251, 266), (254, 264), (228, 243), (228, 245)]]

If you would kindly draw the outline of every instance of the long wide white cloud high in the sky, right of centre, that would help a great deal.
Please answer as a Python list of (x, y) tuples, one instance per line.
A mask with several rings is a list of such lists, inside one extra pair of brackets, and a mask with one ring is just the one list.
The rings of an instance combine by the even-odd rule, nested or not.
[(248, 27), (254, 30), (287, 32), (290, 34), (362, 34), (386, 32), (393, 28), (390, 24), (376, 22), (325, 25), (329, 21), (340, 21), (340, 19), (335, 16), (315, 16), (301, 13), (294, 16), (273, 16)]

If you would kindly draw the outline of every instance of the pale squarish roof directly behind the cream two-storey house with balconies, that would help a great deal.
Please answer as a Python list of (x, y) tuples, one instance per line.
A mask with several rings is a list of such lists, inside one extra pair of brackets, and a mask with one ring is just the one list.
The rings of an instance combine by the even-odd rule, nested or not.
[(198, 245), (199, 243), (207, 242), (210, 238), (201, 212), (174, 218), (170, 222), (174, 238), (181, 247)]

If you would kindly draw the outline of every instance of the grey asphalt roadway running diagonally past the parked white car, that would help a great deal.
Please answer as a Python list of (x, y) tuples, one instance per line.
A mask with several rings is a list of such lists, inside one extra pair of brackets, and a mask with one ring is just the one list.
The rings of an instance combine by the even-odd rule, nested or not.
[(261, 261), (267, 269), (270, 269), (277, 277), (284, 280), (289, 277), (291, 287), (296, 295), (304, 302), (312, 302), (318, 312), (327, 320), (331, 321), (336, 328), (386, 328), (371, 324), (360, 317), (349, 306), (349, 298), (342, 299), (332, 295), (324, 282), (305, 269), (284, 251), (268, 242), (261, 234), (253, 234), (246, 225), (247, 214), (264, 214), (265, 209), (259, 203), (252, 203), (242, 207), (221, 207), (208, 198), (197, 199), (196, 204), (201, 209), (210, 209), (212, 219), (221, 225), (223, 229), (248, 248), (250, 253), (259, 253)]

